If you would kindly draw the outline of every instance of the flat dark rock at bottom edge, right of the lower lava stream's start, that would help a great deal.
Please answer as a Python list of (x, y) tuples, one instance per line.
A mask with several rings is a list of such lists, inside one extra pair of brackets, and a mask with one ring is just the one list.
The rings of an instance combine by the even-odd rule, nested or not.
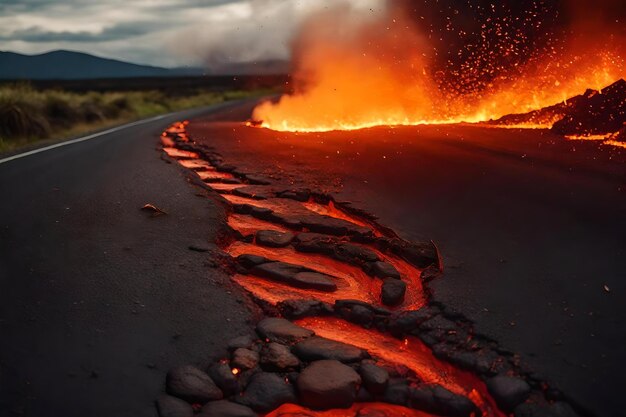
[(440, 385), (409, 389), (409, 403), (415, 409), (449, 417), (471, 417), (478, 412), (476, 405), (468, 398)]

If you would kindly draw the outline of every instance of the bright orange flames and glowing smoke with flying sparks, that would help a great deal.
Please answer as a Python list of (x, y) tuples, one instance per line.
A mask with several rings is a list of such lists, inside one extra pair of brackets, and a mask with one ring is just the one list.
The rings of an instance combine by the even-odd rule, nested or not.
[[(294, 43), (294, 92), (260, 104), (253, 119), (299, 132), (476, 123), (554, 105), (624, 77), (618, 40), (573, 36), (558, 48), (555, 41), (534, 51), (525, 27), (541, 31), (542, 22), (537, 12), (525, 19), (514, 26), (510, 17), (486, 18), (474, 34), (480, 45), (442, 51), (432, 29), (398, 8), (360, 18), (327, 11), (310, 19)], [(469, 39), (461, 30), (457, 36)]]

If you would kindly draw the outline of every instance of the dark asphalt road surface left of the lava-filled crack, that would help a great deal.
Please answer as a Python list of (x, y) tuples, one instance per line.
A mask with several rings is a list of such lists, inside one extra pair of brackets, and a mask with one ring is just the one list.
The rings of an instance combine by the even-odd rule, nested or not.
[(222, 206), (156, 146), (210, 111), (0, 163), (0, 416), (154, 416), (167, 369), (249, 330), (212, 255), (188, 249), (215, 249)]

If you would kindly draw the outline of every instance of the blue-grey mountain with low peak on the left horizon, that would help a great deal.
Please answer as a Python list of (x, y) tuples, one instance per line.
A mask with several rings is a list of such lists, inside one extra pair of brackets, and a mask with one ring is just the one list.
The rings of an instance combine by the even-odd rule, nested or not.
[(0, 51), (0, 79), (90, 79), (202, 75), (199, 68), (160, 68), (101, 58), (83, 52), (23, 55)]

